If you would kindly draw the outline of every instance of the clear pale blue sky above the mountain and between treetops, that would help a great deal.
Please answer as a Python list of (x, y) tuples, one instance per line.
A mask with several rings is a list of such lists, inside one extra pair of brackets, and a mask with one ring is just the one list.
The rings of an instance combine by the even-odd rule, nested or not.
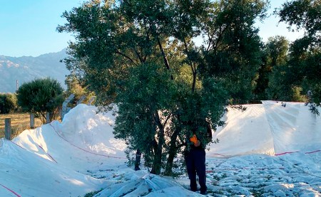
[[(61, 18), (63, 11), (70, 11), (83, 1), (85, 0), (0, 0), (0, 55), (38, 56), (66, 48), (73, 37), (69, 33), (58, 33), (56, 27), (66, 23)], [(283, 2), (285, 0), (271, 0), (270, 13)], [(271, 16), (264, 23), (258, 23), (263, 41), (276, 35), (294, 41), (302, 35), (287, 31), (284, 23), (277, 26), (277, 21), (275, 16)]]

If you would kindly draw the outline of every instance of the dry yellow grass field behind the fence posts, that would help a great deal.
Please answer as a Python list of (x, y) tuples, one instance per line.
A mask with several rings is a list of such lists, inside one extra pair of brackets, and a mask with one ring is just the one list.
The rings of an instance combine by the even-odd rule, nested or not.
[[(26, 129), (30, 128), (30, 115), (24, 113), (16, 113), (16, 114), (6, 114), (0, 115), (0, 138), (4, 137), (4, 119), (11, 118), (11, 129), (12, 129), (12, 138), (19, 135)], [(34, 126), (41, 126), (42, 122), (40, 119), (34, 119)]]

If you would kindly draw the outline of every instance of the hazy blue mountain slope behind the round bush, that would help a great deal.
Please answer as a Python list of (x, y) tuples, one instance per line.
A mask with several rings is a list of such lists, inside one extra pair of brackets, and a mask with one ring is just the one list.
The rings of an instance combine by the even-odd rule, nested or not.
[(20, 86), (24, 82), (46, 77), (58, 80), (66, 89), (65, 78), (70, 72), (66, 65), (60, 62), (66, 57), (66, 49), (38, 57), (13, 58), (0, 55), (0, 92), (16, 92), (16, 80)]

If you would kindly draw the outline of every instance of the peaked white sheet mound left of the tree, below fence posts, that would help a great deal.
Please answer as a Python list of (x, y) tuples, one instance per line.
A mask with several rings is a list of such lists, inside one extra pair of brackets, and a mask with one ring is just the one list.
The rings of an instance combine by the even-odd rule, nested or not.
[(108, 158), (108, 164), (126, 161), (125, 142), (113, 137), (113, 115), (96, 111), (96, 107), (78, 105), (63, 122), (26, 130), (12, 142), (76, 171), (99, 166)]

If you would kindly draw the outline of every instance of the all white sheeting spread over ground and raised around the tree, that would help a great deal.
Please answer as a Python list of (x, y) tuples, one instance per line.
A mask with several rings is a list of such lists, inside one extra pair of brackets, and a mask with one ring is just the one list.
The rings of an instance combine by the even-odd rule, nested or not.
[[(208, 196), (321, 196), (320, 117), (295, 103), (246, 107), (230, 109), (214, 133), (220, 143), (206, 156)], [(143, 161), (141, 171), (127, 166), (126, 144), (113, 136), (115, 117), (96, 110), (78, 105), (63, 122), (1, 139), (0, 196), (200, 196), (188, 190), (184, 172), (173, 179), (149, 174)], [(286, 151), (300, 152), (267, 155)]]

